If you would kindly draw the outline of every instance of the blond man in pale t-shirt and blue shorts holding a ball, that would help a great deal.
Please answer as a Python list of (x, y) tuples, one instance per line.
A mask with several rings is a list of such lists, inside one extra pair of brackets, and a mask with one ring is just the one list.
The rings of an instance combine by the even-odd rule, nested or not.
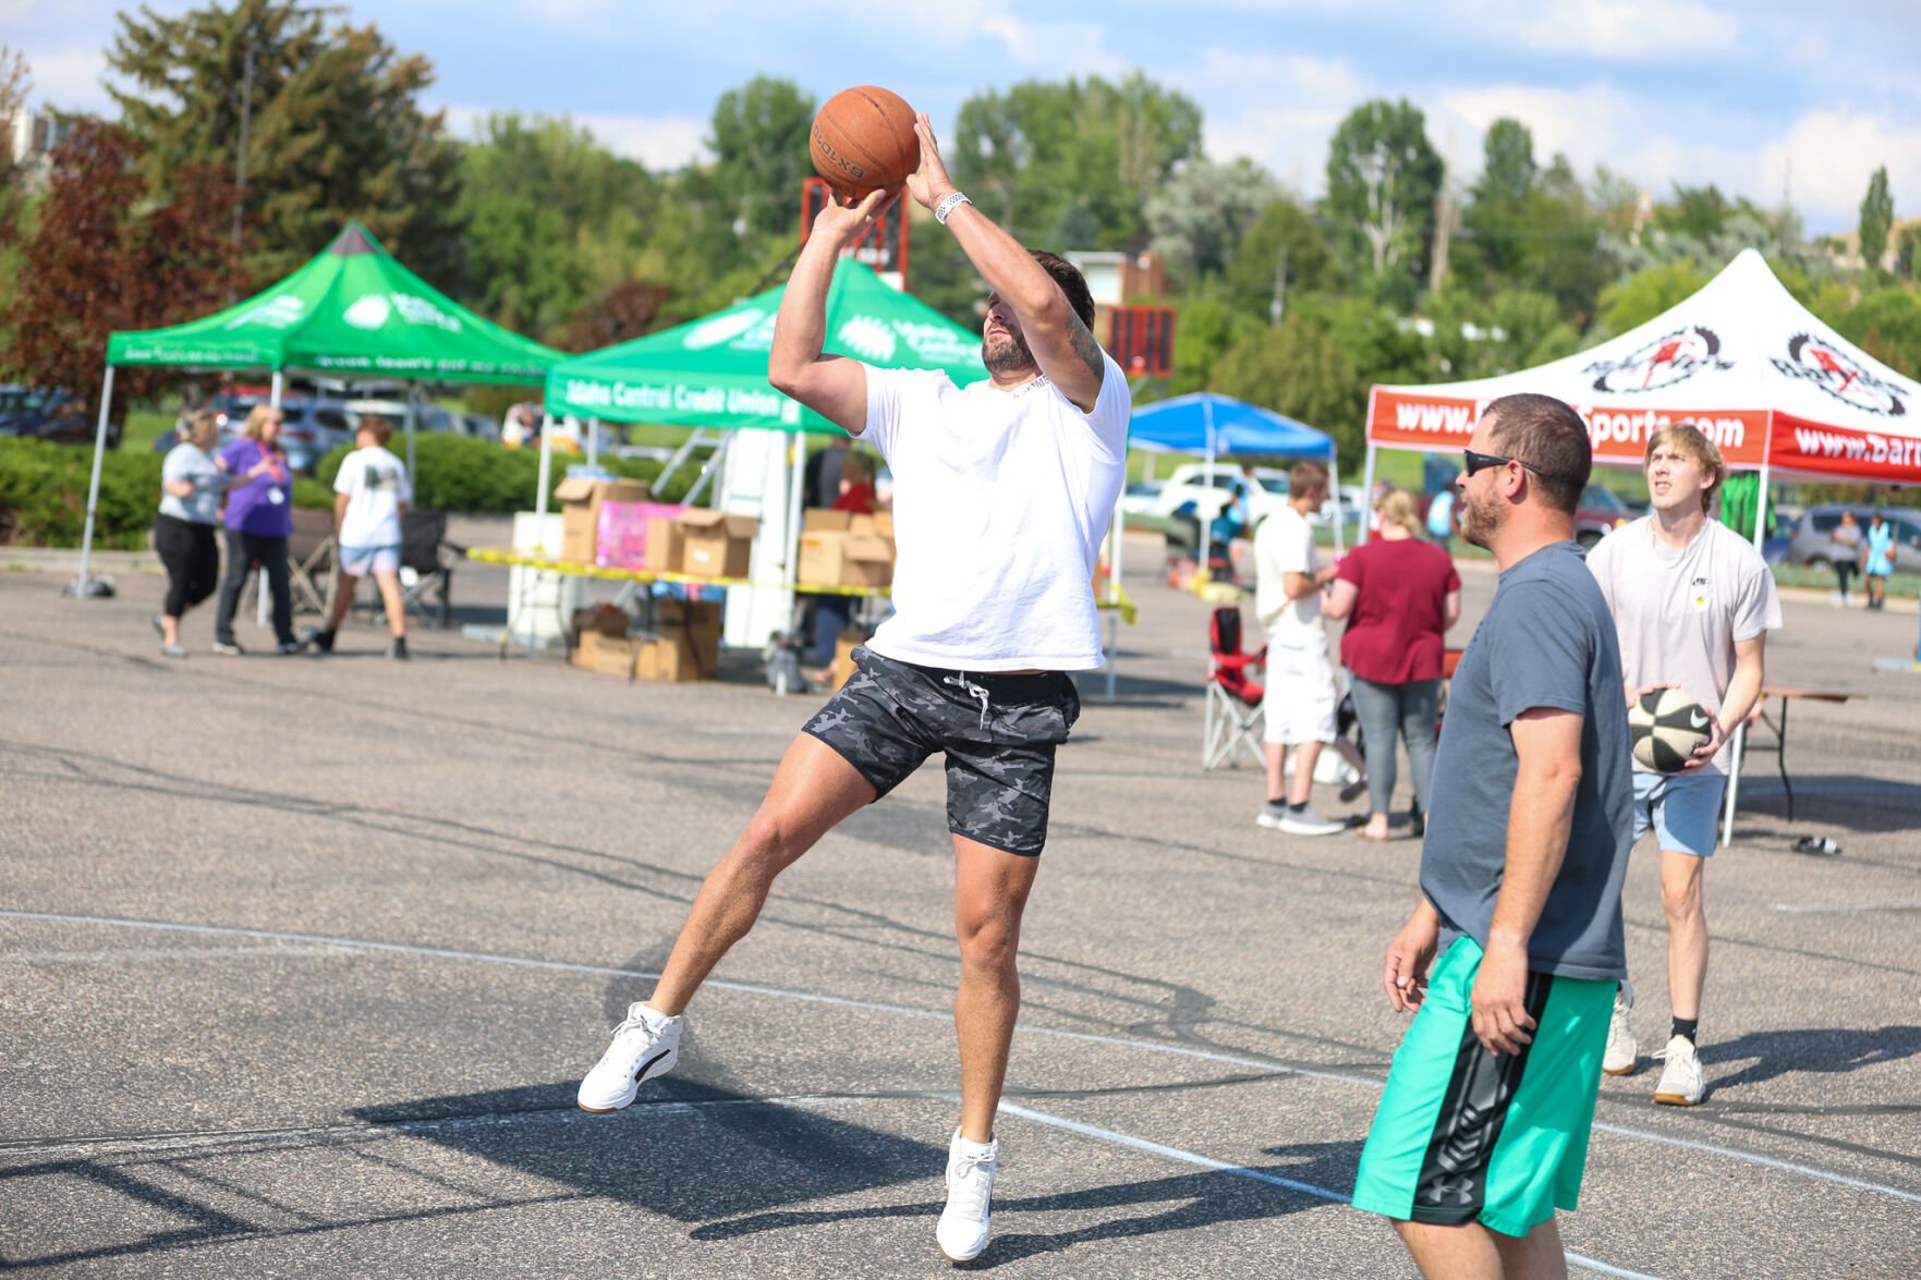
[[(1706, 1095), (1694, 1040), (1708, 984), (1708, 913), (1702, 876), (1714, 857), (1735, 728), (1762, 698), (1767, 632), (1781, 627), (1781, 598), (1762, 554), (1708, 515), (1727, 477), (1721, 450), (1689, 423), (1654, 432), (1646, 450), (1648, 505), (1616, 529), (1587, 563), (1608, 600), (1621, 640), (1627, 703), (1679, 686), (1708, 711), (1712, 736), (1681, 773), (1635, 761), (1635, 840), (1654, 830), (1667, 911), (1667, 996), (1673, 1024), (1654, 1101), (1692, 1107)], [(1633, 1074), (1633, 986), (1623, 982), (1602, 1071)]]

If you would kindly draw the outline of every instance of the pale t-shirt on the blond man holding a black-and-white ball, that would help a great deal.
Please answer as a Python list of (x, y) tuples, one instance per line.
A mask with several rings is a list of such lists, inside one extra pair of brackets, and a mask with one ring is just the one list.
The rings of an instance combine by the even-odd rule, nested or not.
[[(1679, 552), (1654, 538), (1654, 517), (1616, 529), (1587, 554), (1587, 567), (1621, 636), (1621, 680), (1679, 684), (1710, 713), (1735, 678), (1735, 644), (1781, 627), (1775, 575), (1754, 544), (1717, 519)], [(1702, 773), (1727, 773), (1721, 746)], [(1648, 773), (1637, 759), (1635, 769)]]

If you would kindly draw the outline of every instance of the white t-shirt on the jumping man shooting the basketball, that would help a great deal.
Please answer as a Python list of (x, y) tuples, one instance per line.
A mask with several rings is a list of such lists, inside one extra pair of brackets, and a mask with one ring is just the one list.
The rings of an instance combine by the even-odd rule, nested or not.
[(1128, 377), (1093, 413), (1047, 379), (955, 386), (866, 365), (859, 438), (893, 471), (893, 617), (876, 653), (955, 671), (1099, 667), (1093, 571), (1126, 477)]

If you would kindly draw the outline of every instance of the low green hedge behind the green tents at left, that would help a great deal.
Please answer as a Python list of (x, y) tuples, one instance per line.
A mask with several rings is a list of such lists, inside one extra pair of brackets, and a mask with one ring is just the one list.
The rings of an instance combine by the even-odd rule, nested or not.
[[(403, 438), (392, 442), (405, 455)], [(294, 479), (296, 507), (332, 507), (338, 448), (321, 459), (315, 477)], [(94, 461), (90, 448), (48, 440), (0, 438), (0, 544), (79, 546), (86, 523), (86, 480)], [(553, 484), (567, 475), (571, 459), (553, 455)], [(161, 455), (146, 450), (109, 450), (100, 469), (100, 511), (94, 546), (136, 552), (146, 546), (154, 513), (159, 509)], [(538, 450), (503, 450), (488, 440), (430, 434), (415, 440), (415, 504), (469, 515), (507, 515), (534, 507), (540, 479)], [(609, 471), (653, 480), (661, 463), (651, 457), (609, 459)], [(669, 494), (684, 494), (699, 475), (682, 469)]]

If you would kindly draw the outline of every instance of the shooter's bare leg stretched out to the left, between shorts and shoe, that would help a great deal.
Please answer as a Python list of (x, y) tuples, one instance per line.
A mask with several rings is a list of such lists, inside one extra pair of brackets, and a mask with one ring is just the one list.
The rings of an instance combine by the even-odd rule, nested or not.
[(872, 801), (874, 784), (834, 748), (807, 734), (797, 736), (780, 757), (774, 782), (747, 821), (747, 830), (693, 896), (647, 1007), (680, 1017), (728, 948), (753, 928), (774, 876), (841, 819)]

